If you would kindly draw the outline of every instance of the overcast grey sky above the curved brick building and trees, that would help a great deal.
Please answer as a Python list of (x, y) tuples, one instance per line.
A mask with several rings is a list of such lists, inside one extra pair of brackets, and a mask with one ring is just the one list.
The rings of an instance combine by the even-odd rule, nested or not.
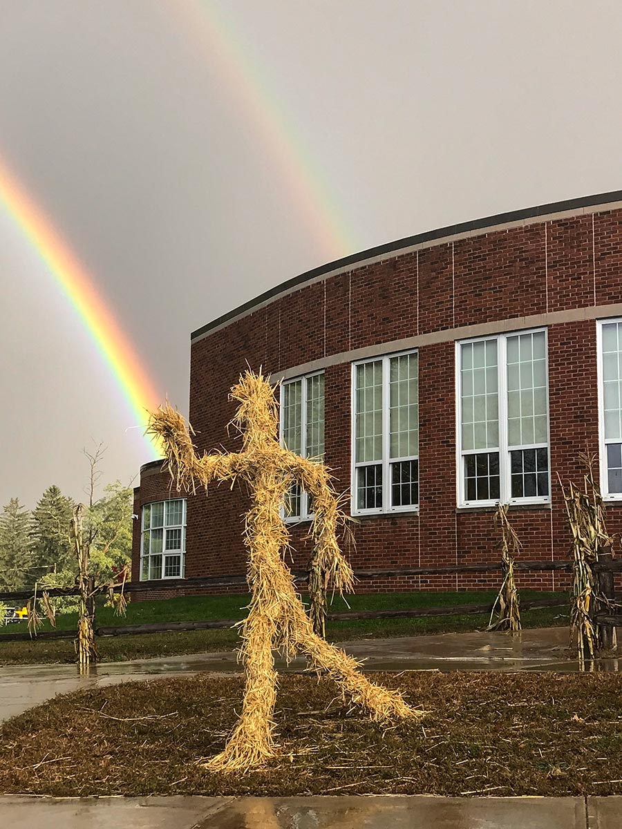
[[(189, 333), (339, 255), (622, 188), (620, 2), (0, 0), (0, 159), (187, 411)], [(216, 32), (216, 34), (215, 34)], [(331, 231), (332, 229), (332, 231)], [(150, 460), (0, 203), (0, 505)]]

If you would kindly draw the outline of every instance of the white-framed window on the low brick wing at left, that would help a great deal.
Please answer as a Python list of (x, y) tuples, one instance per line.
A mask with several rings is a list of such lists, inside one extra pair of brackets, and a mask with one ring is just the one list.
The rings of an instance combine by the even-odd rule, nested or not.
[(140, 579), (180, 579), (186, 553), (186, 499), (143, 507)]

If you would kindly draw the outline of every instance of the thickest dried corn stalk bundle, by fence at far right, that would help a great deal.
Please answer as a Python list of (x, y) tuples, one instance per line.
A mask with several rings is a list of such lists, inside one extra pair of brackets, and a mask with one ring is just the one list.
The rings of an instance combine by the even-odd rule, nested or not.
[(583, 489), (572, 482), (566, 489), (561, 480), (560, 486), (571, 531), (571, 636), (576, 635), (579, 662), (583, 664), (586, 659), (594, 658), (601, 645), (592, 618), (600, 608), (610, 608), (613, 604), (600, 594), (593, 565), (598, 561), (599, 552), (613, 549), (614, 540), (605, 526), (605, 506), (594, 477), (595, 457), (581, 453), (579, 459), (586, 467)]

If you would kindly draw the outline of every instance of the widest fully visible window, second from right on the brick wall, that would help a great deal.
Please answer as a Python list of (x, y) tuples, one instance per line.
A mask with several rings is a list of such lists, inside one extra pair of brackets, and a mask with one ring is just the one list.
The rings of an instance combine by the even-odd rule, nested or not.
[(548, 502), (546, 330), (456, 349), (459, 505)]

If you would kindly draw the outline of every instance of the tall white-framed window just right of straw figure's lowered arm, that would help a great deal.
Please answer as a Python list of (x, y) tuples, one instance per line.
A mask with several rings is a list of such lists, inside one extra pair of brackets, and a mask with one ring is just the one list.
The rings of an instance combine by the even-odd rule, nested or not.
[(352, 515), (419, 504), (416, 351), (352, 366)]

